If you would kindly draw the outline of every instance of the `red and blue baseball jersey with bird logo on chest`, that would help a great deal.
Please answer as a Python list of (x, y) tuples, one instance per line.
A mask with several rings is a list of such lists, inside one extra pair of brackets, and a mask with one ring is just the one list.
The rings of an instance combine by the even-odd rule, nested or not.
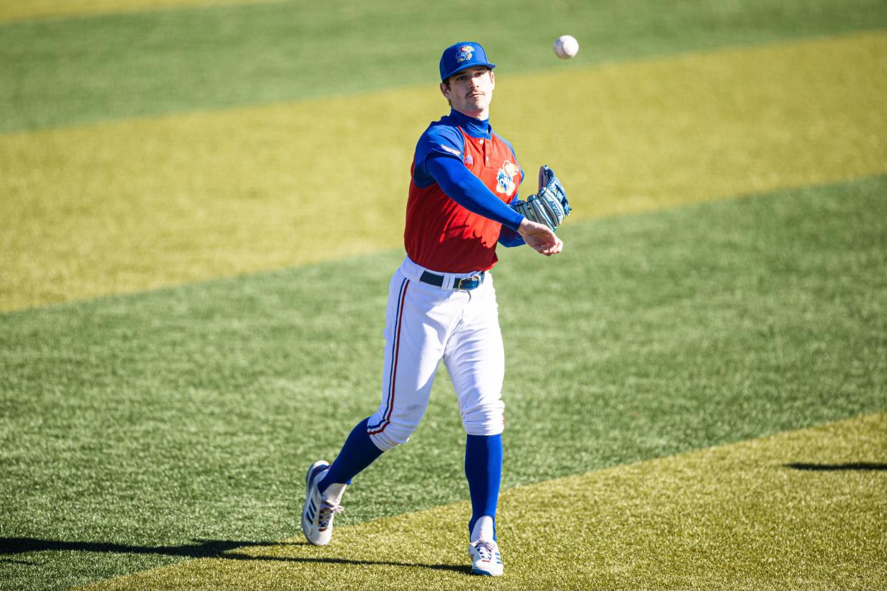
[(523, 220), (507, 206), (523, 179), (511, 144), (488, 121), (453, 111), (420, 136), (411, 176), (404, 229), (410, 259), (442, 273), (493, 268), (503, 224), (515, 230)]

